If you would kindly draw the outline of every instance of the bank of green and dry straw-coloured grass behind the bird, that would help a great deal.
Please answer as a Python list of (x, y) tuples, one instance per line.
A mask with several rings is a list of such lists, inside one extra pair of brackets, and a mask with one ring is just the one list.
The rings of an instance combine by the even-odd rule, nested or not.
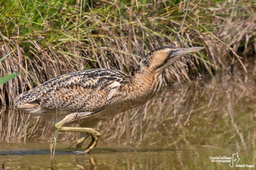
[(0, 77), (23, 72), (0, 86), (3, 104), (63, 73), (132, 73), (142, 56), (163, 45), (206, 47), (166, 70), (169, 83), (236, 61), (246, 70), (241, 57), (255, 52), (255, 1), (10, 0), (0, 6), (0, 56), (16, 49), (1, 62)]

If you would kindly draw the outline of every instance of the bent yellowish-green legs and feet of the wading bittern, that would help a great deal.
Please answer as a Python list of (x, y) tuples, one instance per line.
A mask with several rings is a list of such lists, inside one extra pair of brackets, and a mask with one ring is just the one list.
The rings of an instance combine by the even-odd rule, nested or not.
[[(57, 130), (60, 130), (60, 132), (85, 132), (87, 134), (90, 134), (92, 136), (92, 142), (88, 145), (87, 149), (84, 151), (85, 153), (88, 153), (97, 145), (100, 138), (100, 133), (93, 128), (63, 127), (65, 123), (74, 121), (75, 119), (76, 119), (76, 113), (68, 114), (63, 120), (56, 123), (55, 127), (57, 128)], [(81, 148), (80, 144), (82, 145), (85, 139), (86, 139), (85, 137), (82, 137), (81, 139), (79, 139), (78, 148)]]

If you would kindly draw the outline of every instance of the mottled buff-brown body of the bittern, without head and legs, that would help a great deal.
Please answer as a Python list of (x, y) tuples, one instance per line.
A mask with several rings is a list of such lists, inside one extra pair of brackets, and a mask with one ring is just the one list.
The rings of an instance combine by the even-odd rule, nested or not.
[(87, 117), (90, 123), (150, 100), (161, 86), (158, 76), (145, 73), (131, 77), (109, 69), (68, 73), (22, 93), (15, 98), (15, 107), (37, 114), (56, 108), (67, 114), (77, 112), (76, 118)]

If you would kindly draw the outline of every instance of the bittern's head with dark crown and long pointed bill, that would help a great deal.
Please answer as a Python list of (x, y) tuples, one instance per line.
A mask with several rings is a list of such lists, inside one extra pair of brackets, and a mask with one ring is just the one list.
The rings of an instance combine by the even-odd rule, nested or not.
[(177, 48), (173, 46), (164, 46), (149, 52), (136, 68), (136, 72), (145, 70), (163, 72), (165, 68), (172, 65), (177, 59), (189, 52), (202, 50), (204, 47)]

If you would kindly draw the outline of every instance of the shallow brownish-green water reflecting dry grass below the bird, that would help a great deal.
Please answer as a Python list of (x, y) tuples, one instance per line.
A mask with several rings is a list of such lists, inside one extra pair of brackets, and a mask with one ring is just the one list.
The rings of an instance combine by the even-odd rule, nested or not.
[[(68, 149), (79, 134), (58, 134), (53, 159), (56, 118), (2, 108), (0, 164), (5, 169), (255, 169), (255, 80), (253, 73), (226, 74), (164, 88), (151, 102), (100, 122), (102, 137), (90, 154)], [(232, 159), (211, 159), (230, 160), (235, 153), (234, 167)]]

